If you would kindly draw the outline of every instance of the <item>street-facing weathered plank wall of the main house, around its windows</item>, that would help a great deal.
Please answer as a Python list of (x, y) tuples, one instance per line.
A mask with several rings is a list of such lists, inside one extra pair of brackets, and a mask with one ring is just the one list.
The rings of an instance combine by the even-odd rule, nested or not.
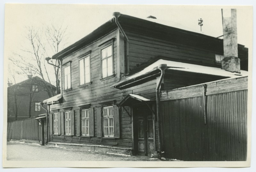
[[(101, 67), (100, 67), (100, 47), (102, 42), (114, 38), (114, 73), (115, 76), (108, 79), (101, 79)], [(79, 70), (78, 70), (78, 58), (82, 54), (91, 51), (91, 84), (86, 86), (79, 85)], [(61, 104), (53, 104), (50, 108), (54, 111), (64, 112), (64, 108), (72, 107), (72, 111), (75, 111), (75, 133), (78, 130), (78, 119), (76, 113), (80, 109), (79, 105), (90, 103), (90, 108), (94, 109), (94, 137), (84, 136), (67, 136), (67, 135), (51, 135), (50, 141), (53, 142), (68, 142), (68, 143), (81, 143), (81, 144), (102, 144), (106, 146), (115, 147), (127, 147), (132, 148), (132, 122), (131, 117), (125, 110), (120, 108), (120, 138), (99, 138), (97, 137), (97, 109), (101, 107), (102, 103), (114, 101), (118, 104), (128, 94), (144, 94), (149, 97), (155, 97), (156, 79), (144, 83), (140, 86), (135, 86), (125, 90), (118, 90), (110, 87), (114, 83), (118, 82), (117, 74), (117, 39), (116, 31), (109, 33), (102, 39), (88, 45), (87, 47), (71, 54), (63, 59), (62, 64), (71, 62), (71, 90), (63, 90), (63, 102)], [(63, 77), (62, 69), (62, 77)], [(64, 83), (62, 82), (62, 85)], [(126, 109), (129, 109), (128, 107)]]

